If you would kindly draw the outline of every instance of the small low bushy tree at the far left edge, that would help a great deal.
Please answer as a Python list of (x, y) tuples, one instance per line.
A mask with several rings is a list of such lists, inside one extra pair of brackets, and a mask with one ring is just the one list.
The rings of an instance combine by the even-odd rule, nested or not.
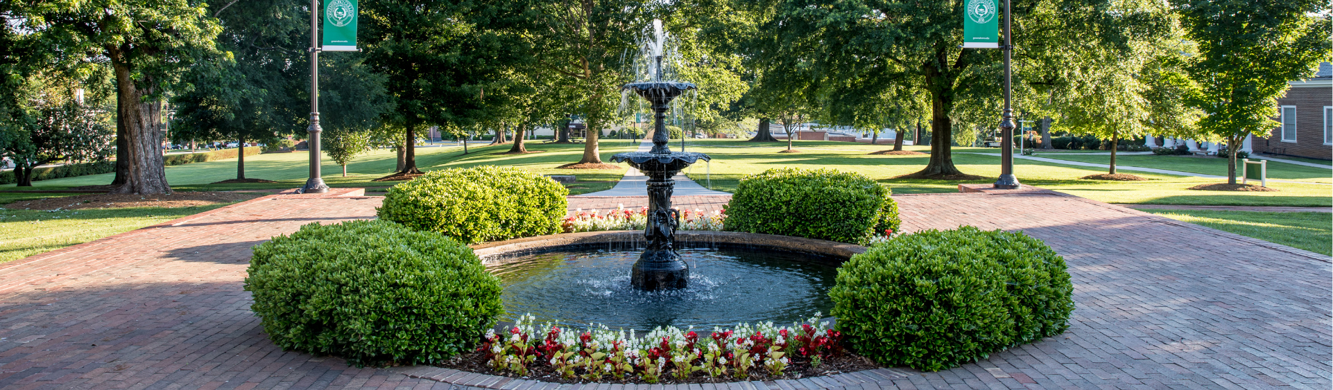
[(107, 161), (116, 134), (109, 104), (80, 101), (72, 80), (39, 75), (25, 80), (20, 112), (4, 129), (0, 156), (15, 164), (19, 186), (32, 186), (32, 170), (51, 162)]

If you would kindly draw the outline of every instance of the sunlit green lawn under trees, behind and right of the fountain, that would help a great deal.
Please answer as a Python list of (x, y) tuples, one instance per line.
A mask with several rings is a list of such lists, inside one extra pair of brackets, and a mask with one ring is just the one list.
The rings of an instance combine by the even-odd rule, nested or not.
[[(866, 148), (870, 145), (852, 145), (846, 142), (824, 141), (797, 141), (796, 149), (801, 153), (777, 153), (785, 149), (785, 142), (778, 144), (750, 144), (740, 140), (709, 140), (698, 142), (692, 152), (709, 153), (713, 161), (698, 164), (689, 169), (689, 176), (694, 181), (717, 190), (734, 192), (736, 184), (744, 176), (762, 172), (778, 166), (804, 168), (834, 168), (841, 170), (858, 172), (880, 182), (889, 185), (893, 193), (941, 193), (957, 192), (957, 181), (937, 180), (896, 180), (893, 177), (920, 170), (929, 161), (929, 156), (870, 156), (860, 150), (882, 150), (886, 148)], [(848, 149), (848, 150), (829, 150)], [(858, 149), (858, 150), (852, 150)], [(906, 150), (926, 150), (929, 146), (904, 146)], [(1096, 150), (1086, 150), (1096, 153)], [(996, 153), (990, 148), (954, 148), (953, 162), (965, 173), (985, 177), (1000, 174), (1000, 157), (972, 154)], [(1044, 157), (1054, 153), (1040, 154)], [(1066, 158), (1068, 153), (1058, 156)], [(1110, 156), (1073, 156), (1076, 158), (1108, 158)], [(1130, 157), (1130, 156), (1121, 156)], [(1157, 156), (1133, 156), (1157, 157)], [(1066, 158), (1074, 160), (1074, 158)], [(1208, 158), (1200, 158), (1208, 161)], [(1225, 162), (1222, 158), (1216, 158)], [(1089, 161), (1096, 162), (1096, 161)], [(1128, 164), (1126, 164), (1128, 165)], [(1292, 172), (1306, 172), (1308, 177), (1318, 176), (1321, 169), (1308, 166), (1294, 166)], [(1225, 168), (1225, 165), (1224, 165)], [(1172, 169), (1172, 168), (1166, 168)], [(1309, 173), (1314, 172), (1314, 173)], [(1105, 173), (1097, 168), (1069, 166), (1053, 162), (1014, 160), (1014, 173), (1020, 181), (1029, 185), (1042, 186), (1080, 197), (1117, 204), (1165, 204), (1165, 205), (1272, 205), (1272, 206), (1333, 206), (1333, 186), (1309, 184), (1274, 184), (1269, 186), (1280, 192), (1201, 192), (1188, 188), (1218, 182), (1218, 180), (1182, 177), (1170, 174), (1136, 173), (1149, 178), (1144, 182), (1094, 181), (1080, 177)], [(1333, 170), (1329, 172), (1333, 178)], [(1272, 169), (1270, 169), (1272, 174)], [(1294, 173), (1293, 173), (1294, 174)], [(988, 184), (993, 180), (974, 181)]]

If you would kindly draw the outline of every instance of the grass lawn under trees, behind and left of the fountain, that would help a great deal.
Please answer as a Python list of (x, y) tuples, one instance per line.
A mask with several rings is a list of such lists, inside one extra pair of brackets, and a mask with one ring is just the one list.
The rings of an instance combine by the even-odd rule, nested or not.
[[(609, 189), (615, 181), (624, 176), (625, 169), (585, 170), (585, 169), (556, 169), (559, 165), (576, 162), (583, 156), (583, 144), (540, 144), (529, 142), (528, 150), (541, 150), (521, 156), (501, 156), (509, 145), (487, 146), (469, 145), (469, 154), (463, 154), (460, 146), (429, 146), (417, 148), (417, 166), (423, 170), (441, 168), (471, 166), (479, 164), (513, 165), (528, 168), (543, 174), (575, 174), (580, 182), (569, 185), (572, 193), (587, 193)], [(611, 154), (633, 150), (636, 145), (628, 141), (611, 140), (603, 142), (603, 160), (609, 160)], [(245, 177), (279, 181), (276, 184), (224, 184), (212, 182), (236, 178), (236, 158), (209, 162), (195, 162), (185, 165), (167, 166), (167, 181), (176, 190), (233, 190), (233, 189), (287, 189), (299, 188), (305, 184), (308, 176), (307, 158), (309, 154), (297, 153), (268, 153), (245, 157)], [(340, 166), (332, 164), (327, 156), (321, 166), (324, 182), (329, 186), (389, 186), (397, 182), (375, 182), (371, 180), (384, 177), (393, 172), (396, 154), (391, 149), (379, 149), (357, 157), (348, 164), (348, 176), (343, 177)], [(115, 178), (113, 173), (68, 177), (57, 180), (35, 181), (32, 190), (65, 189), (80, 185), (104, 185)], [(13, 188), (13, 185), (7, 185)], [(0, 186), (3, 188), (3, 186)]]

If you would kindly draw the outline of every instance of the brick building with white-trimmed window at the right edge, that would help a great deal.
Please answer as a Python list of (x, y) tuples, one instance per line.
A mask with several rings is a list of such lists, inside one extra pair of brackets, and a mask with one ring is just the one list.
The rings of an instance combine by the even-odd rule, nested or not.
[(1254, 152), (1333, 160), (1333, 64), (1292, 81), (1277, 105), (1281, 125), (1266, 138), (1256, 137)]

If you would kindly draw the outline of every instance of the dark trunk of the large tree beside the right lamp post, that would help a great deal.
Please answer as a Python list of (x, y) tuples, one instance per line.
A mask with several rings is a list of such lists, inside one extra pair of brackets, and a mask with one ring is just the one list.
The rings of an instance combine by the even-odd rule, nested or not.
[(945, 176), (964, 174), (953, 166), (953, 120), (949, 113), (953, 110), (953, 83), (930, 64), (925, 65), (926, 88), (930, 91), (930, 161), (925, 169), (913, 173), (928, 178), (942, 178)]

